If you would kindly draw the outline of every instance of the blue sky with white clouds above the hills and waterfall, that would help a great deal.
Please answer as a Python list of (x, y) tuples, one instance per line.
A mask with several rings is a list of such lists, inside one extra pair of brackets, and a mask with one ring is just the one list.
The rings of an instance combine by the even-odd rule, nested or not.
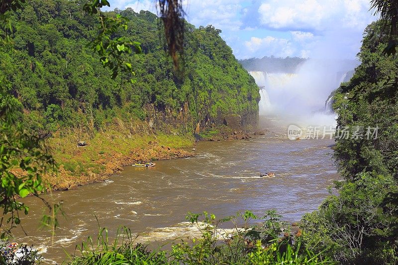
[[(355, 59), (370, 0), (183, 0), (187, 20), (211, 24), (238, 59), (298, 56)], [(110, 0), (111, 9), (156, 11), (156, 0)]]

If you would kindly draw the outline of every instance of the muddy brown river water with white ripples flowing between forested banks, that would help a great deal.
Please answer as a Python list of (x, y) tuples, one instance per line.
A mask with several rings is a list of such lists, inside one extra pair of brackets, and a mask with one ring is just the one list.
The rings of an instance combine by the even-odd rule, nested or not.
[[(287, 127), (267, 128), (266, 135), (250, 141), (199, 142), (196, 157), (157, 161), (154, 168), (126, 167), (103, 183), (54, 192), (52, 199), (64, 202), (66, 218), (60, 218), (53, 244), (49, 232), (38, 230), (42, 203), (27, 198), (31, 209), (22, 224), (28, 236), (18, 229), (15, 236), (39, 246), (47, 263), (59, 263), (65, 251), (73, 253), (76, 244), (96, 235), (95, 215), (101, 227), (114, 233), (118, 226), (128, 226), (141, 242), (189, 235), (188, 211), (224, 217), (276, 209), (284, 220), (298, 221), (319, 206), (327, 186), (339, 179), (331, 157), (334, 141), (290, 141)], [(265, 172), (275, 172), (275, 177), (259, 176)]]

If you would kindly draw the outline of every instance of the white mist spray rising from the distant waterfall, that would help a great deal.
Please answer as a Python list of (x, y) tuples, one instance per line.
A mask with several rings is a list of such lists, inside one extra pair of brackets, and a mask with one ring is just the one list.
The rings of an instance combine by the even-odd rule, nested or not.
[(335, 126), (325, 100), (353, 68), (352, 62), (309, 59), (294, 74), (250, 72), (261, 88), (260, 115), (278, 115), (300, 126)]

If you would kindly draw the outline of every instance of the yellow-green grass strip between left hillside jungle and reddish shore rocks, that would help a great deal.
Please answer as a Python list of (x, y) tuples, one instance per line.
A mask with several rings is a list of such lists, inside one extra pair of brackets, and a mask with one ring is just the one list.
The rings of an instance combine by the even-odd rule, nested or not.
[[(88, 145), (78, 147), (78, 141), (86, 141)], [(54, 137), (47, 139), (46, 144), (56, 162), (63, 165), (67, 174), (79, 179), (90, 172), (104, 173), (106, 163), (128, 157), (133, 149), (149, 149), (151, 142), (170, 148), (189, 148), (193, 146), (194, 138), (188, 134), (131, 134), (124, 127), (113, 126), (104, 132), (92, 134), (81, 134), (77, 130), (58, 132)], [(58, 180), (50, 180), (54, 181)]]

